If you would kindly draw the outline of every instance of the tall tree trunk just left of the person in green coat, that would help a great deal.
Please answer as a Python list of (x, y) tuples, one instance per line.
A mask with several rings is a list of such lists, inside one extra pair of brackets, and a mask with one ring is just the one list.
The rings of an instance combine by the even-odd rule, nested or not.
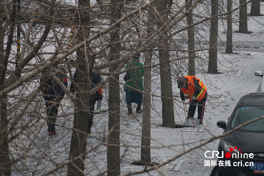
[[(111, 0), (111, 24), (121, 16), (121, 6), (118, 5), (121, 0)], [(114, 28), (110, 34), (110, 61), (117, 60), (120, 57), (120, 34), (119, 26)], [(111, 68), (112, 67), (112, 68)], [(114, 72), (117, 66), (111, 66), (110, 72)], [(108, 115), (108, 142), (107, 145), (107, 175), (120, 175), (120, 91), (119, 75), (109, 81), (109, 115)]]

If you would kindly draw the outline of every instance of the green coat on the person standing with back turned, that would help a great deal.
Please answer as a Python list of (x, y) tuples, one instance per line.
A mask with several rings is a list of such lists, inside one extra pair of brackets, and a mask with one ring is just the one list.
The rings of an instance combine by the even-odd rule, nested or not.
[[(139, 62), (139, 60), (131, 60), (130, 62), (127, 63), (126, 68), (132, 68), (132, 67), (142, 67), (144, 66), (143, 63)], [(126, 85), (124, 86), (124, 91), (125, 92), (137, 92), (135, 89), (140, 90), (143, 92), (144, 87), (143, 87), (143, 75), (144, 75), (144, 68), (138, 68), (134, 70), (130, 70), (126, 74)], [(132, 89), (130, 87), (133, 87), (135, 89)]]

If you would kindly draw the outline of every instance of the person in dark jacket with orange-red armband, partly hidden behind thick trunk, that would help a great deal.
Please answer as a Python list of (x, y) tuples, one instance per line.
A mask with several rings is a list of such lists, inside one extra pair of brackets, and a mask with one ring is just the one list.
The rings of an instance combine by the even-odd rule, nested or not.
[[(75, 89), (75, 85), (74, 82), (76, 83), (76, 76), (77, 76), (77, 72), (75, 71), (74, 75), (73, 75), (73, 82), (71, 83), (70, 86), (70, 91), (72, 93), (74, 93), (76, 91)], [(101, 76), (100, 75), (92, 75), (92, 87), (91, 89), (93, 89), (94, 87), (96, 87), (99, 83), (101, 82)], [(98, 91), (96, 91), (90, 99), (90, 112), (91, 112), (91, 117), (89, 117), (88, 119), (88, 128), (87, 128), (87, 134), (91, 135), (91, 127), (93, 125), (93, 119), (94, 119), (94, 104), (96, 103), (96, 101), (100, 101), (103, 99), (102, 96), (103, 93), (103, 89), (99, 89)]]

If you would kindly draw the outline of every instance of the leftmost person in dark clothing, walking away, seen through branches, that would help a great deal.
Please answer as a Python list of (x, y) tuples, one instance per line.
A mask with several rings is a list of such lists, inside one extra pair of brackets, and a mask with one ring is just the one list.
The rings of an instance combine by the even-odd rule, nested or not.
[[(58, 69), (58, 67), (56, 68)], [(43, 75), (45, 72), (43, 72)], [(55, 71), (51, 70), (51, 74), (53, 74), (52, 72)], [(55, 74), (53, 75), (55, 75), (58, 79), (60, 79), (60, 81), (65, 85), (65, 87), (67, 87), (68, 83), (67, 83), (67, 78), (65, 76), (63, 76), (60, 72), (55, 72)], [(41, 77), (40, 83), (42, 82), (43, 82), (42, 95), (44, 97), (46, 104), (48, 132), (49, 135), (55, 135), (56, 116), (58, 114), (60, 101), (64, 98), (65, 92), (49, 76), (47, 76), (46, 78)]]

